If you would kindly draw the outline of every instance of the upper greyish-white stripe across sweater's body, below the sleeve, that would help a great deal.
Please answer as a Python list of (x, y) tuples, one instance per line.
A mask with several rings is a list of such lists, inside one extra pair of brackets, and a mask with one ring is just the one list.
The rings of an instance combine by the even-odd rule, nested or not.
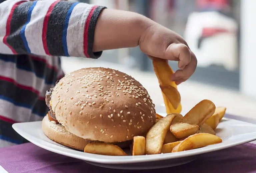
[(12, 62), (0, 60), (0, 69), (0, 76), (11, 78), (20, 85), (35, 88), (40, 92), (40, 96), (45, 96), (46, 90), (53, 86), (45, 84), (44, 79), (36, 77), (32, 72), (17, 69), (16, 64)]

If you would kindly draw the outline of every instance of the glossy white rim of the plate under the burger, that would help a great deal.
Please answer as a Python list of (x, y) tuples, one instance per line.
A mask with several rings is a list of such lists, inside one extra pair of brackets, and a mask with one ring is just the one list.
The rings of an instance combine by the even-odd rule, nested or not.
[[(252, 125), (254, 127), (256, 127), (256, 124), (253, 123), (249, 123), (249, 122), (244, 122), (244, 121), (240, 121), (240, 120), (236, 120), (236, 119), (230, 119), (230, 118), (225, 118), (227, 120), (235, 120), (238, 122), (243, 122), (246, 123), (248, 125)], [(22, 131), (24, 132), (24, 130), (18, 128), (17, 126), (20, 124), (31, 124), (31, 123), (41, 123), (42, 121), (33, 121), (33, 122), (19, 122), (19, 123), (14, 123), (12, 125), (12, 128), (19, 133), (22, 137), (24, 137), (24, 134), (22, 133)], [(218, 150), (222, 150), (222, 149), (226, 149), (226, 148), (230, 148), (233, 146), (237, 146), (237, 145), (241, 145), (244, 143), (248, 143), (251, 141), (256, 140), (256, 131), (252, 132), (255, 133), (255, 136), (253, 137), (248, 137), (246, 139), (237, 141), (237, 142), (233, 142), (233, 143), (229, 143), (229, 144), (225, 144), (223, 145), (222, 143), (219, 144), (214, 144), (214, 148), (206, 146), (203, 148), (197, 148), (197, 149), (193, 149), (193, 150), (187, 150), (187, 151), (181, 151), (181, 152), (176, 152), (176, 153), (161, 153), (161, 154), (154, 154), (154, 155), (143, 155), (143, 156), (104, 156), (104, 155), (97, 155), (98, 157), (94, 156), (96, 154), (91, 154), (91, 153), (84, 153), (82, 151), (77, 151), (77, 150), (73, 150), (71, 148), (66, 148), (66, 147), (62, 147), (44, 140), (41, 140), (39, 138), (34, 137), (33, 135), (26, 133), (26, 137), (24, 137), (25, 139), (27, 139), (28, 141), (30, 141), (31, 143), (33, 143), (34, 145), (37, 145), (38, 147), (41, 147), (45, 150), (57, 153), (57, 154), (61, 154), (64, 156), (69, 156), (72, 158), (77, 158), (80, 160), (84, 160), (84, 161), (89, 161), (89, 162), (95, 162), (95, 163), (101, 163), (101, 164), (125, 164), (125, 163), (140, 163), (140, 162), (152, 162), (152, 161), (161, 161), (161, 160), (171, 160), (171, 159), (176, 159), (176, 158), (185, 158), (185, 157), (189, 157), (189, 156), (196, 156), (196, 155), (200, 155), (200, 154), (204, 154), (204, 153), (209, 153), (209, 152), (213, 152), (213, 151), (218, 151)], [(45, 144), (45, 145), (44, 145)], [(52, 146), (52, 147), (51, 147)], [(58, 147), (62, 147), (61, 150), (58, 150)], [(72, 150), (72, 152), (67, 152), (68, 150)], [(81, 152), (83, 154), (81, 154)], [(94, 156), (94, 157), (92, 157)], [(145, 160), (145, 156), (148, 157)], [(105, 157), (105, 158), (104, 158)], [(122, 158), (127, 158), (126, 160), (120, 160), (120, 157)], [(119, 159), (118, 159), (119, 158)], [(128, 159), (129, 158), (129, 159)]]

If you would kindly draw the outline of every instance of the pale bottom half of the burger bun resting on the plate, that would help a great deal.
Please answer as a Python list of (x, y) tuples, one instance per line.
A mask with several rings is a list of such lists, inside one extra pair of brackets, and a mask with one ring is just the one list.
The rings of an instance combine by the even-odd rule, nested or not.
[[(77, 150), (83, 151), (84, 147), (91, 142), (104, 143), (101, 141), (91, 141), (84, 138), (80, 138), (67, 131), (64, 126), (56, 124), (55, 121), (50, 121), (48, 115), (46, 115), (43, 118), (42, 130), (44, 134), (52, 141)], [(109, 144), (118, 145), (121, 148), (127, 148), (130, 146), (131, 140)]]

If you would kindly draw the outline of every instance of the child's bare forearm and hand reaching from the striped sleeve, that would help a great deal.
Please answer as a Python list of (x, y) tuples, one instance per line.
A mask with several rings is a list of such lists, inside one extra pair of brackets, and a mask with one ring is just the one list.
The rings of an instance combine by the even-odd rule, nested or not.
[(177, 84), (195, 71), (197, 60), (184, 39), (175, 32), (132, 12), (104, 9), (96, 24), (94, 51), (139, 46), (149, 57), (179, 61), (172, 76)]

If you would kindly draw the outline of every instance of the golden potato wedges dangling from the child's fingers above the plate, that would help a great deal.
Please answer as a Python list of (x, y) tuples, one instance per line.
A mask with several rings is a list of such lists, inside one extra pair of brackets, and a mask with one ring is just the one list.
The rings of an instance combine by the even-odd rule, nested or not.
[[(168, 64), (168, 61), (160, 58), (154, 58), (153, 66), (160, 86), (172, 86), (177, 89), (177, 85), (175, 84), (175, 82), (171, 81), (171, 75), (174, 73)], [(167, 114), (180, 113), (181, 104), (180, 102), (177, 102), (177, 97), (180, 96), (177, 95), (177, 91), (172, 88), (172, 90), (169, 90), (168, 92), (165, 91), (165, 93), (162, 90), (162, 94)], [(168, 95), (168, 97), (166, 95)]]

